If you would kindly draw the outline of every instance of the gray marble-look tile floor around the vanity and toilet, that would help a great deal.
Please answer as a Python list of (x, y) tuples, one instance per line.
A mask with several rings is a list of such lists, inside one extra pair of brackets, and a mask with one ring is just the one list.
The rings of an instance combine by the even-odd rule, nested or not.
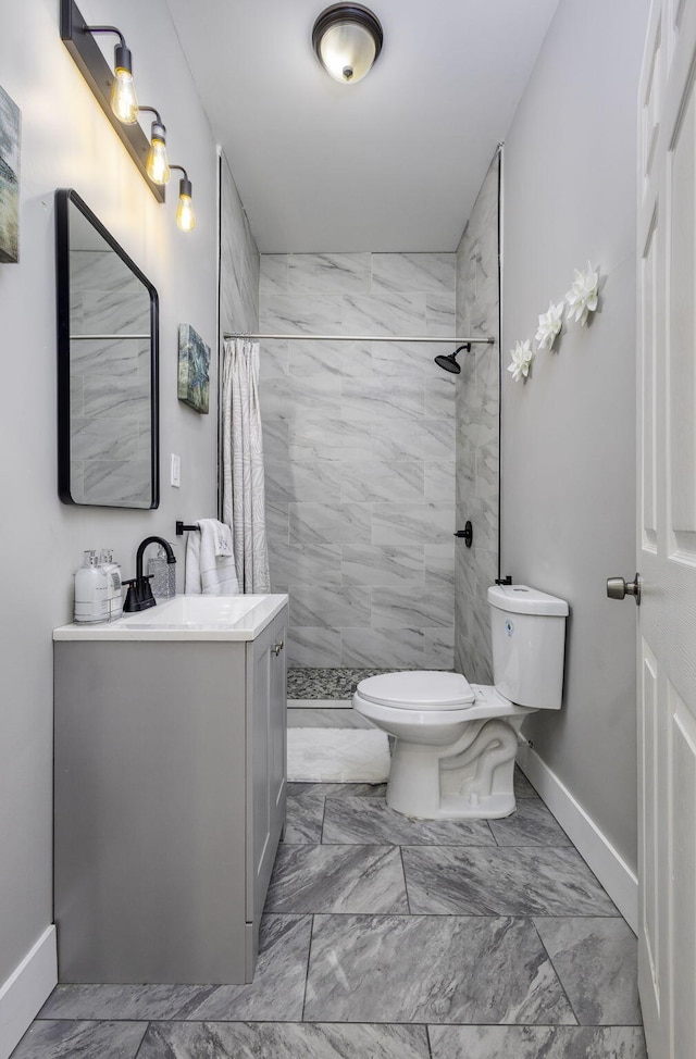
[(59, 986), (13, 1059), (647, 1059), (635, 937), (522, 773), (500, 821), (290, 784), (244, 986)]

